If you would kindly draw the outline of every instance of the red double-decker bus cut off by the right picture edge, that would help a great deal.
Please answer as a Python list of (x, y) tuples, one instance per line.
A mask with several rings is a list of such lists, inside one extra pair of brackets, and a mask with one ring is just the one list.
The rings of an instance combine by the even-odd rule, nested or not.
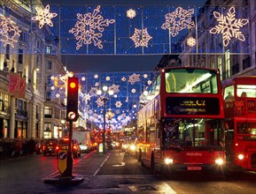
[(256, 171), (256, 76), (222, 83), (227, 160)]

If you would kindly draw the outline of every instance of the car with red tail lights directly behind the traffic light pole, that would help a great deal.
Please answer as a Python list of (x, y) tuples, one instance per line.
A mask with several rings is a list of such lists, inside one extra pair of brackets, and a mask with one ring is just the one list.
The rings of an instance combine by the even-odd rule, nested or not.
[[(58, 151), (59, 150), (68, 150), (68, 140), (69, 138), (61, 138), (58, 139), (58, 144), (57, 144), (57, 157), (58, 157)], [(72, 139), (71, 142), (72, 146), (72, 153), (74, 155), (74, 158), (78, 158), (81, 156), (81, 147), (76, 139)]]

